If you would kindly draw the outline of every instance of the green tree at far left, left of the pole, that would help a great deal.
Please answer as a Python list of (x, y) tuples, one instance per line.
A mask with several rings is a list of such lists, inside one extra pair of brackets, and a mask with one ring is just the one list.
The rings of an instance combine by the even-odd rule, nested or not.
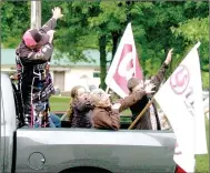
[(17, 48), (30, 28), (30, 2), (1, 2), (1, 39), (4, 48)]

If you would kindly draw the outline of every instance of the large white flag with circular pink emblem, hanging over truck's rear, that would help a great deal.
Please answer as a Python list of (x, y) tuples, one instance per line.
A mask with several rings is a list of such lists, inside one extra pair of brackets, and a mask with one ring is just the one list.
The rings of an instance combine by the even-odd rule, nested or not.
[(194, 154), (207, 153), (199, 45), (191, 49), (154, 95), (177, 136), (173, 160), (187, 172), (194, 170)]

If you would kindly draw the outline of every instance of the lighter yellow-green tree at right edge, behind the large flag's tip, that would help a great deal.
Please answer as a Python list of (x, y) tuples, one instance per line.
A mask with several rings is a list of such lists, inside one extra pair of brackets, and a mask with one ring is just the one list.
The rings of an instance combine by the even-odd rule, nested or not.
[[(209, 9), (208, 2), (188, 2), (186, 9), (188, 19), (172, 27), (176, 39), (183, 39), (184, 51), (188, 52), (198, 41), (200, 64), (202, 72), (202, 86), (209, 89)], [(189, 16), (193, 18), (189, 19)]]

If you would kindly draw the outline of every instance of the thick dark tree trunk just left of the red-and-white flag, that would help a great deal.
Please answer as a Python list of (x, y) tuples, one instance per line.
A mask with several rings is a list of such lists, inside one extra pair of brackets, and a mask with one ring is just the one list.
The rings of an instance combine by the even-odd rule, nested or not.
[(99, 38), (99, 51), (100, 51), (100, 70), (101, 70), (101, 74), (100, 74), (100, 80), (101, 80), (101, 84), (100, 88), (106, 90), (106, 77), (107, 77), (107, 54), (106, 54), (106, 47), (107, 47), (107, 37), (106, 35), (101, 35)]

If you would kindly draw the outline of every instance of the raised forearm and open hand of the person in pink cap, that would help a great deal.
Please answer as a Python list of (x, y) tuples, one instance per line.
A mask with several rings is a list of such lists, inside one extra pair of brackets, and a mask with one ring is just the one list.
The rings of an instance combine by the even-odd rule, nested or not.
[(54, 30), (57, 26), (57, 20), (59, 18), (62, 18), (63, 14), (61, 14), (61, 9), (60, 8), (54, 8), (52, 9), (52, 18), (47, 21), (46, 24), (43, 24), (40, 29), (41, 32), (48, 32), (49, 30)]

